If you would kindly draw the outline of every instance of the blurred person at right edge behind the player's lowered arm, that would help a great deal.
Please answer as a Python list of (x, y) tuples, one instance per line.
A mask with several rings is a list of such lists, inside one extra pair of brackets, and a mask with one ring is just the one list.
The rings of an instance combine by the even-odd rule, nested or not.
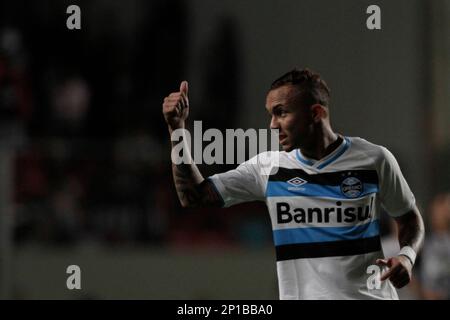
[(430, 219), (422, 255), (424, 298), (450, 299), (450, 193), (433, 199)]

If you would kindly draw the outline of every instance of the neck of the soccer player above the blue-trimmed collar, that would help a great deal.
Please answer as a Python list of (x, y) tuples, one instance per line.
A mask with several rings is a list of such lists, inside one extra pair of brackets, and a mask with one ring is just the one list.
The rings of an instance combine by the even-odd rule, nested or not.
[(339, 135), (333, 132), (330, 126), (321, 124), (316, 130), (317, 134), (312, 143), (307, 147), (301, 147), (302, 153), (311, 159), (322, 159), (333, 152), (340, 144)]

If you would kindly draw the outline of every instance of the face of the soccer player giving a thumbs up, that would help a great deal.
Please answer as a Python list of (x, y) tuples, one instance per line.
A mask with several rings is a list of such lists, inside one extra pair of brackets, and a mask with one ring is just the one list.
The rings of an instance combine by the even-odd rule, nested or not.
[(310, 108), (301, 103), (300, 91), (285, 85), (269, 91), (266, 109), (271, 116), (270, 128), (278, 129), (280, 144), (284, 151), (306, 147), (313, 134)]

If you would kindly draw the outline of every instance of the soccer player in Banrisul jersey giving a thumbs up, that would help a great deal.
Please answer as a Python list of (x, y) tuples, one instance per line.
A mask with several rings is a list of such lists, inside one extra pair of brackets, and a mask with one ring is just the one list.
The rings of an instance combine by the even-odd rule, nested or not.
[[(254, 159), (208, 179), (192, 161), (173, 165), (178, 197), (183, 207), (265, 201), (280, 299), (398, 299), (394, 287), (411, 280), (423, 220), (394, 156), (334, 132), (329, 102), (330, 90), (319, 74), (286, 73), (266, 98), (270, 127), (279, 130), (283, 149), (267, 152), (277, 157), (269, 174), (262, 174)], [(164, 99), (170, 133), (185, 128), (188, 112), (183, 81), (179, 92)], [(399, 231), (401, 250), (394, 257), (385, 258), (380, 245), (382, 208)]]

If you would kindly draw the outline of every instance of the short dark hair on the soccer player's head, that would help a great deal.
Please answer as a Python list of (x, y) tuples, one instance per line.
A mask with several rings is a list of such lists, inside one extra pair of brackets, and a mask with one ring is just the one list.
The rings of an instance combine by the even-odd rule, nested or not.
[(320, 78), (320, 74), (309, 69), (297, 69), (282, 75), (270, 86), (270, 90), (277, 89), (285, 85), (296, 86), (301, 94), (303, 103), (306, 106), (319, 103), (325, 107), (330, 101), (330, 89), (325, 81)]

